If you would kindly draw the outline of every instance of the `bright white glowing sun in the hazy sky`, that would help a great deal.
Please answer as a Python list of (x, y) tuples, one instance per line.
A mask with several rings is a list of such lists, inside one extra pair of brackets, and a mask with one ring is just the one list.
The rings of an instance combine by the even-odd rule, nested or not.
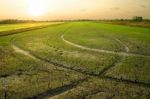
[(31, 16), (41, 16), (46, 13), (47, 6), (43, 0), (29, 0), (28, 12)]

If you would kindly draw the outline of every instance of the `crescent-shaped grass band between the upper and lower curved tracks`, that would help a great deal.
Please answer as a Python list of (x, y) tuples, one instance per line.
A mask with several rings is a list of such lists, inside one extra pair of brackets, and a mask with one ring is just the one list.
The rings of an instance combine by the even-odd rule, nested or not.
[[(16, 45), (40, 57), (63, 64), (66, 67), (80, 69), (89, 73), (93, 72), (94, 74), (99, 74), (104, 68), (109, 67), (119, 58), (117, 55), (97, 54), (65, 44), (61, 39), (61, 31), (67, 26), (37, 30), (34, 32), (36, 35), (29, 32), (27, 33), (28, 35), (21, 35), (16, 38), (14, 42)], [(37, 34), (36, 32), (40, 33)]]

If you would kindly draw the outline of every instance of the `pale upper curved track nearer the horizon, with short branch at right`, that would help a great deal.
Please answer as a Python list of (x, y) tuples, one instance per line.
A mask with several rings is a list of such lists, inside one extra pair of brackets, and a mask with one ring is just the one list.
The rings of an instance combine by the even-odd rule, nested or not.
[(116, 39), (117, 42), (120, 42), (126, 49), (126, 52), (114, 52), (114, 51), (108, 51), (108, 50), (101, 50), (101, 49), (95, 49), (95, 48), (89, 48), (89, 47), (86, 47), (86, 46), (82, 46), (82, 45), (79, 45), (79, 44), (76, 44), (76, 43), (73, 43), (73, 42), (70, 42), (68, 40), (66, 40), (64, 38), (64, 35), (61, 35), (61, 39), (69, 44), (69, 45), (72, 45), (74, 47), (77, 47), (77, 48), (80, 48), (80, 49), (83, 49), (83, 50), (88, 50), (88, 51), (94, 51), (94, 52), (99, 52), (99, 53), (107, 53), (107, 54), (117, 54), (117, 55), (121, 55), (121, 56), (138, 56), (138, 57), (150, 57), (149, 55), (141, 55), (141, 54), (133, 54), (133, 53), (128, 53), (130, 50), (129, 48), (123, 44), (123, 42), (121, 42), (119, 39)]

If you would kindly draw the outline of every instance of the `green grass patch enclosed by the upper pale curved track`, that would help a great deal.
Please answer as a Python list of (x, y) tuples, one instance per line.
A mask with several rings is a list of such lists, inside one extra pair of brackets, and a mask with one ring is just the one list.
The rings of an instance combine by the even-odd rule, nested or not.
[[(100, 24), (97, 24), (97, 26), (99, 25)], [(118, 44), (115, 40), (115, 37), (108, 35), (107, 31), (93, 28), (93, 23), (75, 23), (74, 26), (64, 34), (64, 38), (90, 48), (111, 51), (124, 50), (123, 46)]]

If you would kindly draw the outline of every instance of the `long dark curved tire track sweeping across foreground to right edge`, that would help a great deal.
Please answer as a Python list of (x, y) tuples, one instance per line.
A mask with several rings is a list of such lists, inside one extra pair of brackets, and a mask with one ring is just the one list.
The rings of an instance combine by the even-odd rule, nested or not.
[[(13, 46), (16, 46), (13, 44)], [(16, 46), (17, 47), (17, 46)], [(20, 50), (24, 50), (22, 49), (21, 47), (18, 47)], [(24, 50), (26, 51), (26, 50)], [(29, 53), (29, 51), (26, 51)], [(23, 53), (22, 53), (23, 54)], [(144, 83), (144, 82), (135, 82), (135, 81), (131, 81), (131, 80), (126, 80), (126, 79), (118, 79), (118, 78), (113, 78), (113, 77), (107, 77), (107, 76), (104, 76), (103, 74), (106, 72), (104, 71), (103, 73), (101, 73), (101, 75), (98, 75), (98, 74), (93, 74), (93, 73), (89, 73), (89, 72), (86, 72), (86, 71), (82, 71), (80, 69), (74, 69), (74, 68), (71, 68), (71, 67), (67, 67), (67, 66), (64, 66), (63, 64), (60, 64), (60, 63), (56, 63), (56, 62), (53, 62), (53, 61), (50, 61), (50, 60), (47, 60), (45, 58), (42, 58), (42, 57), (39, 57), (33, 53), (30, 53), (31, 56), (34, 56), (36, 59), (40, 60), (40, 61), (43, 61), (43, 62), (46, 62), (46, 63), (49, 63), (49, 64), (53, 64), (54, 66), (56, 67), (61, 67), (61, 68), (64, 68), (64, 69), (68, 69), (68, 70), (71, 70), (71, 71), (75, 71), (75, 72), (78, 72), (78, 73), (81, 73), (81, 74), (84, 74), (84, 75), (87, 75), (87, 76), (91, 76), (91, 77), (96, 77), (96, 78), (101, 78), (101, 79), (104, 79), (104, 80), (113, 80), (113, 81), (116, 81), (116, 82), (122, 82), (122, 83), (127, 83), (127, 84), (135, 84), (135, 85), (138, 85), (138, 86), (144, 86), (144, 87), (149, 87), (150, 88), (150, 83)], [(116, 63), (116, 64), (119, 64)], [(114, 65), (113, 65), (114, 66)]]

